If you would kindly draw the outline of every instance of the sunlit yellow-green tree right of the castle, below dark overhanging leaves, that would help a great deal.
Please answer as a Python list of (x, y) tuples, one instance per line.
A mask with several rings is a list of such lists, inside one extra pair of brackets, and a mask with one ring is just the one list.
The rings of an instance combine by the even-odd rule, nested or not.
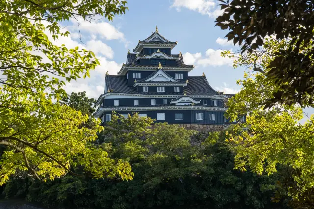
[[(239, 93), (228, 101), (228, 117), (234, 119), (237, 115), (248, 113), (246, 123), (237, 124), (234, 129), (248, 128), (243, 131), (229, 133), (229, 142), (235, 152), (235, 168), (245, 171), (247, 168), (262, 174), (277, 172), (279, 165), (288, 165), (293, 171), (290, 179), (297, 187), (287, 187), (286, 192), (298, 202), (304, 197), (304, 192), (313, 190), (314, 169), (314, 118), (311, 116), (305, 124), (298, 121), (303, 117), (302, 109), (297, 105), (274, 105), (265, 109), (263, 101), (272, 98), (278, 90), (275, 81), (267, 78), (269, 62), (275, 59), (274, 52), (287, 47), (287, 41), (265, 38), (262, 55), (259, 51), (245, 52), (235, 57), (230, 52), (223, 56), (235, 58), (234, 67), (247, 67), (244, 79), (237, 81), (241, 85)], [(254, 62), (253, 62), (254, 61)], [(253, 70), (255, 65), (265, 72)], [(250, 71), (251, 70), (251, 71)], [(301, 188), (301, 189), (296, 189)], [(300, 201), (299, 201), (300, 202)]]

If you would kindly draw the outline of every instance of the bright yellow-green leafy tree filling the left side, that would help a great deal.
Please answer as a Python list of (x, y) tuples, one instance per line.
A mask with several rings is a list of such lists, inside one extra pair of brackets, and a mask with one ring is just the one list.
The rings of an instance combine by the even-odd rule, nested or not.
[[(103, 130), (100, 121), (60, 104), (67, 96), (65, 82), (89, 76), (98, 59), (85, 49), (56, 46), (45, 34), (52, 33), (53, 39), (67, 36), (59, 22), (70, 18), (105, 16), (110, 21), (125, 13), (125, 4), (119, 0), (0, 2), (0, 145), (5, 147), (0, 185), (14, 175), (42, 180), (75, 175), (71, 166), (76, 165), (95, 178), (132, 179), (128, 162), (110, 159), (90, 143)], [(45, 56), (49, 61), (44, 61)], [(89, 126), (82, 126), (87, 120)]]

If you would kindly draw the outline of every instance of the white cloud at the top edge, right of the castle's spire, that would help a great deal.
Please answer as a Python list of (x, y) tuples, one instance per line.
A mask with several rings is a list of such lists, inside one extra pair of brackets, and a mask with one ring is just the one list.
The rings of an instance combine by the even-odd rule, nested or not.
[(202, 15), (216, 18), (222, 14), (222, 10), (216, 7), (214, 0), (174, 0), (170, 7), (175, 7), (177, 11), (181, 8), (187, 8), (192, 11), (197, 11)]

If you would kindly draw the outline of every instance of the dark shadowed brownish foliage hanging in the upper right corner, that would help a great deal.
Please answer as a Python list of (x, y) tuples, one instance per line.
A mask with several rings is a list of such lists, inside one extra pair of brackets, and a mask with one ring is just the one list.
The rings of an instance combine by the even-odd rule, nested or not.
[[(253, 52), (274, 36), (287, 47), (270, 54), (274, 59), (265, 69), (267, 80), (278, 89), (264, 98), (265, 108), (275, 104), (313, 106), (314, 2), (310, 0), (232, 0), (222, 2), (223, 14), (216, 19), (221, 29), (229, 29), (228, 40)], [(263, 53), (263, 50), (259, 51)], [(263, 71), (258, 66), (254, 71)]]

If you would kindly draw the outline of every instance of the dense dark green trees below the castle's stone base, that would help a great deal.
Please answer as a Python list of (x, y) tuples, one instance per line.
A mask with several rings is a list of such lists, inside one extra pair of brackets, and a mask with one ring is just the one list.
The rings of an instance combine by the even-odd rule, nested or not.
[(73, 175), (44, 184), (14, 180), (3, 195), (51, 208), (288, 208), (286, 202), (270, 202), (278, 175), (233, 169), (225, 131), (204, 140), (203, 134), (178, 125), (151, 126), (152, 119), (137, 114), (111, 118), (97, 143), (110, 151), (110, 158), (130, 162), (133, 181)]

